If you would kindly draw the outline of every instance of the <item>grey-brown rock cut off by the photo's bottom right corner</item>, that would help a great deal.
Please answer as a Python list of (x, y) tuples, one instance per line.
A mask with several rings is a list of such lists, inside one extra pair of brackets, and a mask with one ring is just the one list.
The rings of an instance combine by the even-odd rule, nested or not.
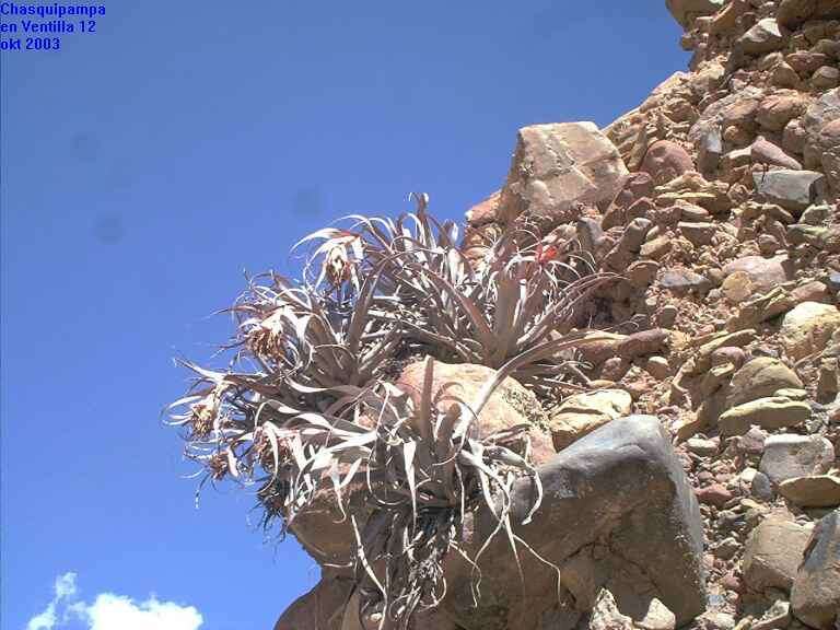
[(831, 630), (840, 615), (840, 510), (814, 527), (791, 592), (793, 614), (819, 630)]

